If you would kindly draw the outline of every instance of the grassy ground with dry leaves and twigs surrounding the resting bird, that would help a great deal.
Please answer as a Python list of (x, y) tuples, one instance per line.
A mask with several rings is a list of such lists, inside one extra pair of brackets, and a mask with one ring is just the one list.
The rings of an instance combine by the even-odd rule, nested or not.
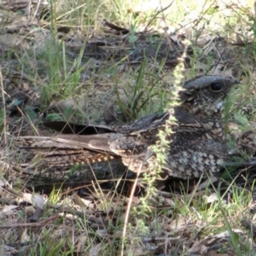
[[(233, 161), (250, 160), (256, 103), (253, 3), (207, 1), (196, 7), (176, 1), (166, 10), (145, 3), (147, 12), (121, 0), (62, 0), (30, 12), (22, 12), (26, 5), (20, 10), (1, 4), (6, 18), (0, 35), (1, 255), (254, 255), (253, 168), (229, 168), (217, 184), (189, 195), (186, 184), (178, 192), (163, 192), (154, 188), (154, 177), (143, 177), (137, 180), (141, 190), (130, 196), (132, 174), (116, 177), (117, 167), (108, 164), (24, 170), (12, 139), (49, 133), (41, 125), (44, 112), (47, 119), (119, 124), (166, 108), (185, 35), (191, 42), (188, 60), (182, 72), (176, 69), (183, 80), (201, 73), (241, 80), (226, 102), (224, 119)], [(104, 31), (103, 19), (129, 34)], [(154, 33), (140, 41), (145, 29)], [(145, 53), (148, 45), (157, 47)], [(95, 178), (101, 168), (106, 172)]]

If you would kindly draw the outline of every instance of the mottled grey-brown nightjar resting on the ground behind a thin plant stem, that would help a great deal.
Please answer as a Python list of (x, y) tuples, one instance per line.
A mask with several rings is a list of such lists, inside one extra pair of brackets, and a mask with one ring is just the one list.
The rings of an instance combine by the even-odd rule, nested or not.
[[(227, 158), (221, 107), (238, 81), (230, 77), (199, 76), (183, 84), (181, 104), (174, 108), (177, 119), (167, 136), (166, 164), (162, 170), (171, 177), (187, 179), (215, 176)], [(72, 166), (121, 158), (132, 172), (150, 171), (152, 147), (160, 129), (165, 129), (170, 113), (154, 113), (122, 126), (45, 123), (62, 133), (55, 137), (20, 137), (20, 148), (32, 149), (49, 166)], [(55, 127), (53, 127), (55, 126)], [(78, 135), (79, 133), (79, 135)]]

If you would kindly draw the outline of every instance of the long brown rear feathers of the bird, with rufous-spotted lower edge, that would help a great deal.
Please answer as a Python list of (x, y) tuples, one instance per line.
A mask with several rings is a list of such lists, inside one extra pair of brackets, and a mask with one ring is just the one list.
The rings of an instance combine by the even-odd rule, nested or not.
[(118, 137), (116, 133), (90, 136), (61, 134), (55, 137), (19, 137), (16, 140), (23, 154), (49, 166), (73, 166), (111, 160), (117, 154), (110, 144)]

